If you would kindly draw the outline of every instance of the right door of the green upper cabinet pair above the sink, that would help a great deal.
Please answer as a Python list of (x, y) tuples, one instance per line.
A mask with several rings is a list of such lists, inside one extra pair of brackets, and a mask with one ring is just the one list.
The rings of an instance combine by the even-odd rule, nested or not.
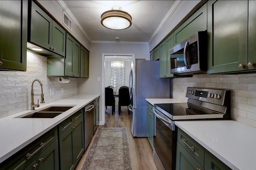
[(66, 31), (56, 22), (52, 21), (52, 51), (65, 56)]

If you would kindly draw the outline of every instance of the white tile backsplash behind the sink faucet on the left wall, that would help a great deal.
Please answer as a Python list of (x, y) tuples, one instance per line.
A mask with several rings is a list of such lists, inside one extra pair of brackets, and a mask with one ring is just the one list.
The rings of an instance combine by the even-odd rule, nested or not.
[[(78, 94), (77, 78), (59, 83), (58, 77), (46, 76), (46, 60), (46, 57), (27, 52), (26, 72), (0, 71), (0, 118), (30, 109), (31, 85), (36, 78), (42, 81), (45, 104)], [(50, 88), (54, 88), (55, 95), (50, 96)], [(41, 94), (38, 82), (34, 83), (34, 94)], [(40, 102), (40, 96), (34, 96), (35, 103), (38, 99)]]

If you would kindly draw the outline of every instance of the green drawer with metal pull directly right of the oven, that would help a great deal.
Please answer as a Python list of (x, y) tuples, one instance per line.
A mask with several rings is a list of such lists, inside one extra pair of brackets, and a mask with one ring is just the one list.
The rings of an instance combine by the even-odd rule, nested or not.
[[(178, 129), (178, 143), (188, 151), (188, 153), (201, 165), (204, 167), (204, 147), (197, 143), (194, 139), (188, 136), (180, 128)], [(189, 147), (193, 147), (190, 149)]]

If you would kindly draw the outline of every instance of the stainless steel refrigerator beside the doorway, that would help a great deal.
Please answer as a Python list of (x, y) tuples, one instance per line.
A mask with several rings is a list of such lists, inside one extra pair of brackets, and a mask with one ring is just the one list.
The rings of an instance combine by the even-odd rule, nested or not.
[(170, 98), (170, 79), (159, 78), (159, 61), (135, 59), (129, 78), (131, 133), (147, 137), (146, 98)]

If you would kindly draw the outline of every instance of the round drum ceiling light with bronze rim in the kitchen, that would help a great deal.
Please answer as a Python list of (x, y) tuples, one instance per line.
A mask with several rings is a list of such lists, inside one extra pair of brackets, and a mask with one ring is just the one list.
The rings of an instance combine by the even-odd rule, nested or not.
[(109, 29), (126, 29), (132, 25), (132, 16), (122, 11), (120, 6), (112, 6), (112, 10), (101, 14), (101, 24)]

